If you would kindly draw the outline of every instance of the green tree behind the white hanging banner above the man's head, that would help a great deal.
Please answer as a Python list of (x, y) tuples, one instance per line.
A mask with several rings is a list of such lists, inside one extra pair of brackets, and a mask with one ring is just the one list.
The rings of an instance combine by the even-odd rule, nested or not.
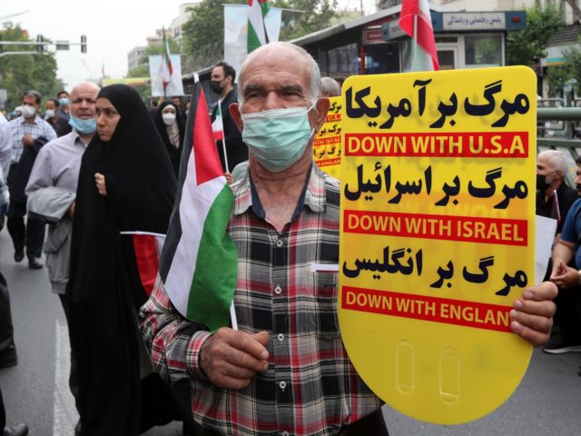
[[(246, 3), (246, 2), (244, 2)], [(241, 0), (202, 0), (191, 8), (192, 16), (182, 25), (183, 64), (188, 71), (212, 66), (224, 53), (224, 4), (241, 4)], [(336, 15), (336, 0), (275, 0), (272, 6), (301, 11), (283, 12), (281, 41), (310, 34), (330, 25)]]

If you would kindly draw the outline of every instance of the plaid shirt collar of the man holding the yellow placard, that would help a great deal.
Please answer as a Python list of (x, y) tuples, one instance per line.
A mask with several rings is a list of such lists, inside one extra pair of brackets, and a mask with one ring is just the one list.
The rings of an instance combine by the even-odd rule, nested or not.
[[(252, 208), (254, 213), (261, 218), (264, 218), (264, 210), (262, 209), (261, 201), (251, 181), (250, 170), (237, 183), (232, 185), (232, 190), (236, 197), (234, 204), (234, 215), (245, 213), (249, 208)], [(320, 213), (325, 211), (326, 190), (325, 190), (325, 175), (320, 171), (316, 164), (312, 164), (310, 168), (309, 179), (300, 193), (297, 208), (292, 214), (294, 220), (300, 213), (302, 206), (307, 206), (311, 211)]]

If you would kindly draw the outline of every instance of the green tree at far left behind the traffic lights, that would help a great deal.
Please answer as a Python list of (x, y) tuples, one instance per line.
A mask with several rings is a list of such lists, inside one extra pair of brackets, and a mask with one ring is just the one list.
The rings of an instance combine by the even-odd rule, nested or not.
[[(20, 25), (10, 22), (0, 31), (0, 41), (31, 41), (23, 35)], [(4, 45), (4, 52), (36, 51), (35, 45)], [(54, 53), (44, 46), (44, 54), (15, 54), (0, 57), (0, 88), (8, 93), (8, 107), (20, 104), (22, 94), (34, 89), (47, 97), (56, 97), (63, 83), (56, 79)]]

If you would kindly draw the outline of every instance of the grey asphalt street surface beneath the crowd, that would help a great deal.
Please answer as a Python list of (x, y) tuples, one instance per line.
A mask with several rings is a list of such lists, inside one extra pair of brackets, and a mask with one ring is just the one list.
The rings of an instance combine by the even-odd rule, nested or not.
[[(86, 247), (90, 250), (91, 247)], [(0, 233), (0, 270), (12, 299), (18, 365), (0, 370), (7, 422), (25, 422), (31, 436), (72, 436), (78, 415), (68, 391), (69, 345), (64, 312), (46, 269), (15, 263), (10, 236)], [(533, 353), (527, 375), (497, 411), (468, 424), (432, 425), (384, 406), (390, 436), (581, 436), (581, 353)], [(177, 436), (173, 423), (145, 433)], [(362, 435), (368, 436), (368, 435)], [(369, 435), (372, 436), (372, 435)]]

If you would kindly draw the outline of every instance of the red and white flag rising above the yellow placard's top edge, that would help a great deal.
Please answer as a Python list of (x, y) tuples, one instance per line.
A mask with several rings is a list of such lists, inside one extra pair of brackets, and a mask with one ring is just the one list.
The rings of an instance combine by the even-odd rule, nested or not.
[(438, 70), (438, 53), (428, 0), (403, 0), (399, 27), (412, 38), (412, 53), (415, 54), (412, 54), (411, 71)]

